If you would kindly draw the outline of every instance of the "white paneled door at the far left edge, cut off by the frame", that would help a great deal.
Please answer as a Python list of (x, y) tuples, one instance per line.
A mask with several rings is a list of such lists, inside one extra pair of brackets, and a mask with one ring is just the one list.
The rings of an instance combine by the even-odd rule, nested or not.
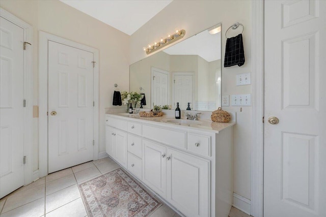
[(24, 185), (24, 30), (1, 19), (0, 198)]

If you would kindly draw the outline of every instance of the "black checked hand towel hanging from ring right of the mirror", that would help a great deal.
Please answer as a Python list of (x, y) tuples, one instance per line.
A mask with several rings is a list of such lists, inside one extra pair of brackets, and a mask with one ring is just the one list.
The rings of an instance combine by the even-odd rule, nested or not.
[(244, 50), (242, 34), (226, 40), (224, 67), (242, 66), (244, 64)]

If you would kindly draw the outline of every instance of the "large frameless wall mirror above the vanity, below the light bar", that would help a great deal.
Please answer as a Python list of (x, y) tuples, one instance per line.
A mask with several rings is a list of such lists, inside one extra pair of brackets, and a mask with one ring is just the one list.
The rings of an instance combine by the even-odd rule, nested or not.
[(221, 24), (130, 65), (130, 91), (146, 105), (216, 110), (221, 106)]

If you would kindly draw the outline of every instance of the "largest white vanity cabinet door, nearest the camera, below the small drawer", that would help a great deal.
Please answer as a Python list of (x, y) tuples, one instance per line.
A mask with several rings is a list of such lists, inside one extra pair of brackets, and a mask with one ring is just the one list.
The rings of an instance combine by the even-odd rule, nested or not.
[(167, 200), (187, 216), (208, 216), (210, 161), (168, 148)]

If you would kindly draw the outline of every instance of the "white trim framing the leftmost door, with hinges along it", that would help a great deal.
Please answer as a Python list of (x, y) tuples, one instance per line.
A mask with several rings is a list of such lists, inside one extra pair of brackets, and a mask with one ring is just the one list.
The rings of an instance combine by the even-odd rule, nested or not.
[[(0, 8), (0, 16), (24, 29), (24, 41), (33, 45), (33, 27)], [(22, 49), (22, 48), (21, 48)], [(33, 47), (26, 46), (24, 52), (24, 98), (26, 107), (24, 113), (24, 184), (33, 180)]]

